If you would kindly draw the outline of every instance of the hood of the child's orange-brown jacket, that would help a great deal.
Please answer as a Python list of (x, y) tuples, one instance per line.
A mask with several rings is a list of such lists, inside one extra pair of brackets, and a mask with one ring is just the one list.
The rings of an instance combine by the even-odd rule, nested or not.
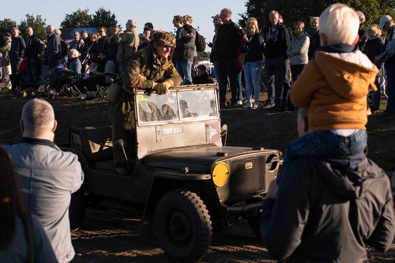
[(331, 88), (348, 100), (367, 95), (369, 86), (376, 87), (374, 81), (377, 68), (361, 53), (316, 52), (316, 63)]

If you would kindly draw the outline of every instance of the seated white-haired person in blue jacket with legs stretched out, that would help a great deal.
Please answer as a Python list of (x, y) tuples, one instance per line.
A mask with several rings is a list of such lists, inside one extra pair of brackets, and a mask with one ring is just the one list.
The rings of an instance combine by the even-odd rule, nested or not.
[(51, 83), (51, 87), (49, 90), (49, 98), (54, 99), (56, 95), (59, 94), (63, 85), (71, 82), (70, 77), (72, 75), (81, 74), (81, 62), (78, 59), (79, 52), (77, 49), (69, 50), (69, 61), (67, 62), (67, 66), (63, 67), (62, 75), (55, 77), (53, 82)]

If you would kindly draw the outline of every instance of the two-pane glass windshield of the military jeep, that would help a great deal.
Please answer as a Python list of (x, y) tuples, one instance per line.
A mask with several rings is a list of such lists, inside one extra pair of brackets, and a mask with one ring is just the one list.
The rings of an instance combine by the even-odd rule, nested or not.
[(137, 94), (136, 102), (139, 124), (218, 118), (214, 88)]

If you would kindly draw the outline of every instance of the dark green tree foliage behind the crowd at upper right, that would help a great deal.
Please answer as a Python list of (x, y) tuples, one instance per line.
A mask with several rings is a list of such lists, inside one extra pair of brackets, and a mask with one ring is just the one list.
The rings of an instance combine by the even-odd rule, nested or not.
[(293, 28), (296, 21), (303, 21), (306, 28), (309, 28), (312, 16), (319, 16), (326, 7), (336, 2), (346, 3), (356, 10), (362, 11), (366, 17), (366, 27), (371, 23), (378, 24), (383, 15), (389, 14), (392, 17), (395, 15), (395, 1), (392, 0), (247, 0), (245, 2), (247, 10), (245, 13), (239, 14), (241, 20), (238, 23), (245, 28), (247, 18), (255, 17), (262, 30), (266, 24), (270, 23), (269, 12), (277, 10), (288, 27)]

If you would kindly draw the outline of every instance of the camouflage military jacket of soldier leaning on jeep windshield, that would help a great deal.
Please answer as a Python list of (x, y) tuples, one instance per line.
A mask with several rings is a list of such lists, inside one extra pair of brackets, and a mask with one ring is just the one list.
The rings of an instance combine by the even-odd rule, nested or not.
[(182, 79), (173, 63), (157, 57), (153, 45), (138, 50), (131, 57), (123, 74), (122, 90), (115, 103), (110, 104), (109, 119), (125, 130), (134, 127), (133, 88), (152, 89), (154, 81), (170, 80), (177, 87)]

